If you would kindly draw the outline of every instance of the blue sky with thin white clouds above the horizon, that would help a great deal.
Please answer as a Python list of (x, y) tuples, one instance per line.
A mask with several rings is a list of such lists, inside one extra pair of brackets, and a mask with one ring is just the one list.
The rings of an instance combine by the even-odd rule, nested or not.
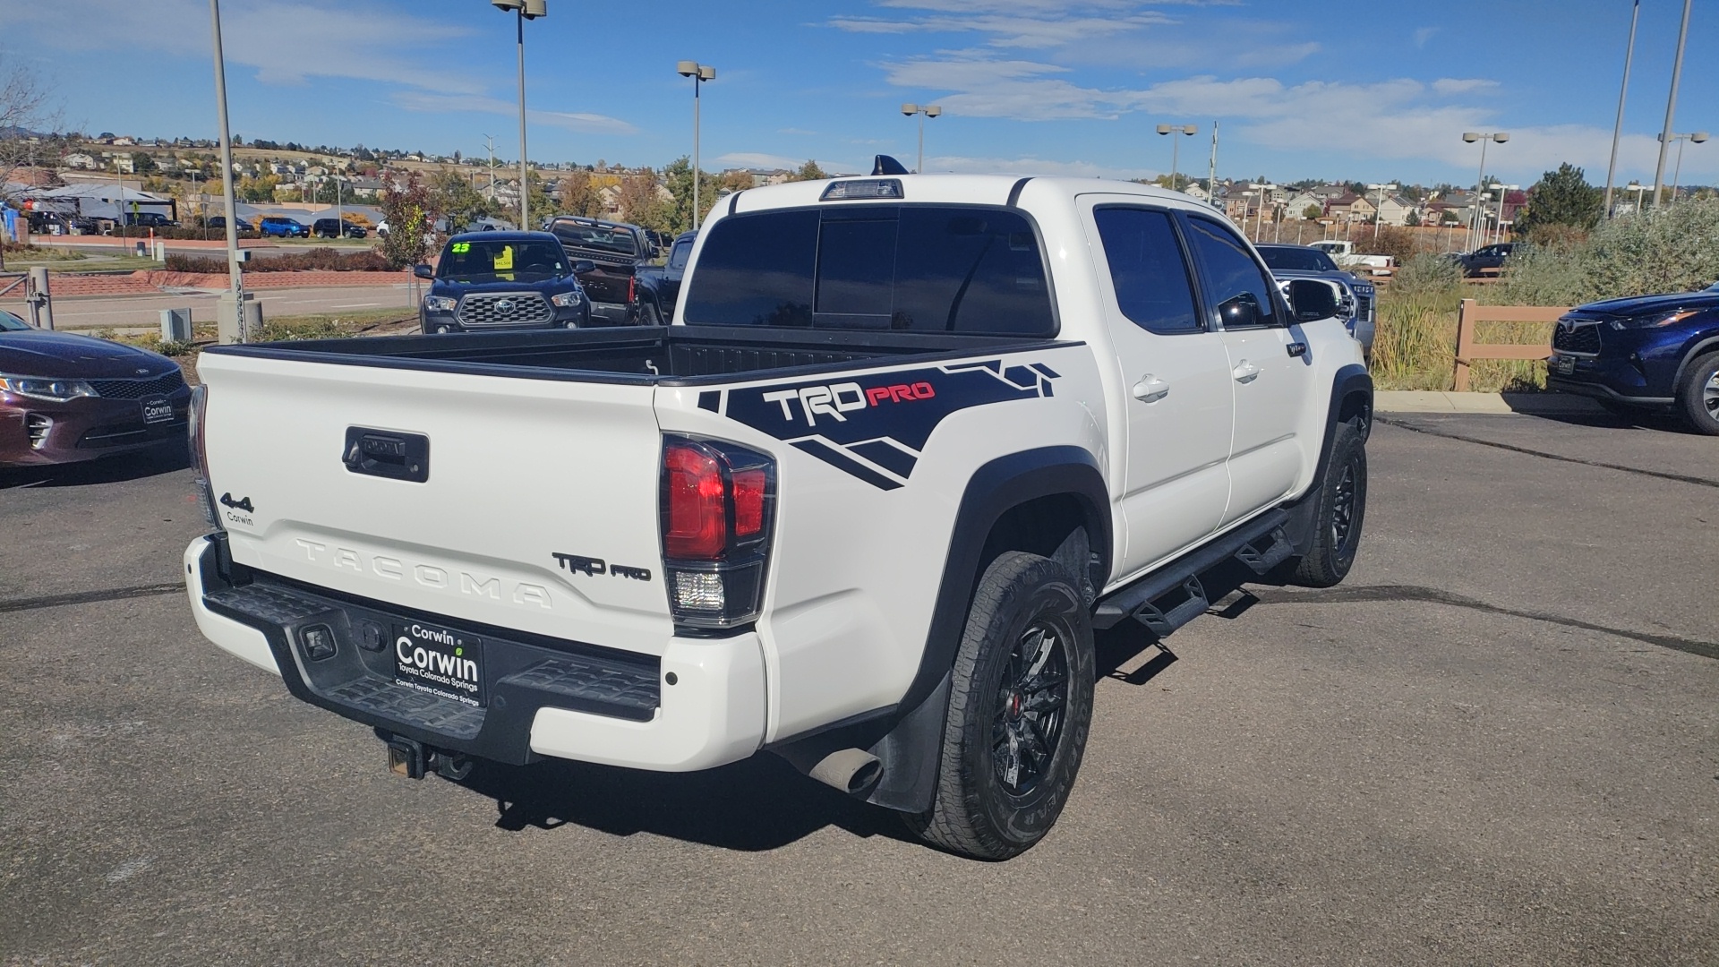
[[(1719, 132), (1719, 9), (1695, 5), (1676, 131)], [(514, 29), (485, 0), (225, 0), (232, 126), (246, 138), (517, 157)], [(1473, 182), (1465, 129), (1509, 131), (1489, 172), (1569, 160), (1606, 177), (1630, 0), (548, 0), (526, 24), (531, 157), (707, 169), (913, 163), (902, 102), (939, 103), (927, 170), (1138, 177), (1159, 122), (1198, 124), (1181, 167), (1219, 176)], [(1678, 0), (1643, 0), (1619, 182), (1650, 181)], [(211, 136), (205, 0), (0, 0), (0, 57), (86, 131)], [(1669, 181), (1669, 169), (1667, 169)], [(1683, 181), (1719, 182), (1719, 141)]]

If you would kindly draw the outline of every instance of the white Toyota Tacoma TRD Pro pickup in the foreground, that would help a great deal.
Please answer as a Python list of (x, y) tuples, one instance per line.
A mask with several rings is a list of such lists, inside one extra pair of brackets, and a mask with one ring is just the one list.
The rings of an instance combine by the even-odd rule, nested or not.
[(1093, 628), (1169, 635), (1231, 559), (1348, 573), (1372, 380), (1332, 310), (1153, 188), (743, 191), (672, 325), (205, 353), (191, 607), (414, 778), (770, 750), (1011, 857)]

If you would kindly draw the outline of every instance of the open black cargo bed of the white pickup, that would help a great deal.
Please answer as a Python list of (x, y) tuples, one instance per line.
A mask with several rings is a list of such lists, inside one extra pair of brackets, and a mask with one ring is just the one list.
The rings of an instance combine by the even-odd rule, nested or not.
[(208, 351), (516, 379), (688, 385), (763, 370), (799, 375), (860, 361), (930, 361), (1049, 342), (1009, 336), (669, 325), (309, 339), (215, 346)]

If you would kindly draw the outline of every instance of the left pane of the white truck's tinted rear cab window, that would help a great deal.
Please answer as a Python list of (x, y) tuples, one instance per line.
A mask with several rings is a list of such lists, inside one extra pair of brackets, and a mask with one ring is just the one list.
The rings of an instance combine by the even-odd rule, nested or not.
[(762, 212), (710, 229), (686, 294), (691, 325), (811, 325), (818, 213)]

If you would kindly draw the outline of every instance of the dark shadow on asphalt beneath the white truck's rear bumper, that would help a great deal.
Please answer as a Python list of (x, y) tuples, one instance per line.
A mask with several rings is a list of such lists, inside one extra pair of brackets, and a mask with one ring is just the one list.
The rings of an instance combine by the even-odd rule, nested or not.
[(916, 841), (887, 809), (808, 779), (768, 752), (703, 773), (480, 762), (459, 785), (493, 798), (497, 829), (516, 833), (571, 822), (614, 836), (653, 833), (741, 852), (775, 850), (825, 826)]

